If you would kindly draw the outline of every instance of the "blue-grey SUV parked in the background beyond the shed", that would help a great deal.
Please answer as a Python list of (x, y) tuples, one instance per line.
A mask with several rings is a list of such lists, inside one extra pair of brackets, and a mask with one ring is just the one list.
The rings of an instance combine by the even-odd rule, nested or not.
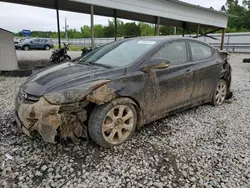
[(31, 49), (50, 50), (53, 47), (54, 45), (51, 39), (43, 39), (43, 38), (24, 39), (19, 41), (18, 44), (16, 44), (16, 49), (21, 49), (25, 51)]

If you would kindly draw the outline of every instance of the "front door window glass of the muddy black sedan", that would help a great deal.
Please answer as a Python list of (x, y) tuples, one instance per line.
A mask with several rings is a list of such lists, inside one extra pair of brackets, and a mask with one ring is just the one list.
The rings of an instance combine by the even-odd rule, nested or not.
[(186, 42), (174, 42), (161, 48), (152, 59), (163, 58), (170, 61), (171, 65), (188, 62)]

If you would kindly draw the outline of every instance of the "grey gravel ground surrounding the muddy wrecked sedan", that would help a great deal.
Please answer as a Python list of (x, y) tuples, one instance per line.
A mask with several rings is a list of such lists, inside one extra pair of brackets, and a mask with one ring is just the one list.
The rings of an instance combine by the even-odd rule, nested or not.
[(2, 187), (250, 187), (250, 64), (233, 55), (234, 97), (143, 127), (103, 149), (46, 144), (18, 132), (13, 102), (24, 78), (0, 77)]

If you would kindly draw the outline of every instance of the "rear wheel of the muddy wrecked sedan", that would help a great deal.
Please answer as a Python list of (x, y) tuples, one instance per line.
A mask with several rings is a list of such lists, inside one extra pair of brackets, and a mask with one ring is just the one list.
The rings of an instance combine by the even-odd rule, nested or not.
[(220, 106), (224, 103), (227, 93), (228, 93), (228, 87), (227, 87), (227, 82), (223, 79), (221, 79), (217, 85), (216, 89), (213, 93), (213, 98), (212, 98), (212, 105), (213, 106)]

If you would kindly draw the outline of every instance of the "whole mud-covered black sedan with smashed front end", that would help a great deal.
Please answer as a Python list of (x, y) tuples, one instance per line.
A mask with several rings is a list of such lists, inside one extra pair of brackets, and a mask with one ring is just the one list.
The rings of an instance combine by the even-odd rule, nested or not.
[(144, 37), (105, 45), (49, 67), (20, 87), (16, 119), (46, 142), (90, 136), (103, 147), (136, 127), (231, 95), (227, 54), (189, 38)]

